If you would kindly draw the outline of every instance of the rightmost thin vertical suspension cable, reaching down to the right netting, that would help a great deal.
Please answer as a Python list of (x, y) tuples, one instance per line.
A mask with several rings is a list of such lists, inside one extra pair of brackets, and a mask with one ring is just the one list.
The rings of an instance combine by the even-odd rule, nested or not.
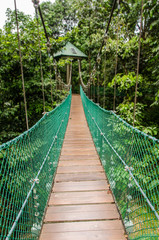
[(143, 20), (143, 4), (144, 4), (144, 3), (143, 3), (143, 0), (142, 0), (142, 2), (141, 2), (141, 19), (140, 19), (139, 47), (138, 47), (138, 57), (137, 57), (137, 72), (136, 72), (135, 99), (134, 99), (133, 127), (135, 126), (136, 103), (137, 103), (137, 90), (138, 90), (139, 68), (140, 68), (140, 52), (141, 52), (141, 33), (142, 33), (142, 20)]

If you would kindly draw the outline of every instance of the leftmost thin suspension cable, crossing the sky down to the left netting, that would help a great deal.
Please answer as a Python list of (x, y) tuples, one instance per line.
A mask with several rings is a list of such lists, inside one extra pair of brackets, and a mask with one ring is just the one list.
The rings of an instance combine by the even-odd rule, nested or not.
[(22, 53), (21, 53), (21, 44), (20, 44), (19, 23), (18, 23), (16, 0), (14, 0), (14, 6), (15, 6), (15, 16), (16, 16), (16, 24), (17, 24), (17, 37), (18, 37), (19, 57), (20, 57), (21, 79), (22, 79), (22, 86), (23, 86), (23, 97), (24, 97), (24, 107), (25, 107), (26, 128), (28, 130), (29, 129), (28, 111), (27, 111), (27, 101), (26, 101), (26, 93), (25, 93), (23, 60), (22, 60)]

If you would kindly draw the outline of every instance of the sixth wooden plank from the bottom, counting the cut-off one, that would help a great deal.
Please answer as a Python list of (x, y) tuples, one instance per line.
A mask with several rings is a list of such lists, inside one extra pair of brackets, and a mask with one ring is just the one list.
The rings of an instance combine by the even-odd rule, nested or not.
[(97, 166), (65, 166), (58, 167), (57, 173), (93, 173), (93, 172), (104, 172), (101, 165)]

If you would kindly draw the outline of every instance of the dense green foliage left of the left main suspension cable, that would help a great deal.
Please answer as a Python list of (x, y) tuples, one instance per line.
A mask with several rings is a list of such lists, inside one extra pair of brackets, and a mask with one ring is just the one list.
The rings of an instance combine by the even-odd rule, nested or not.
[[(2, 123), (0, 143), (14, 138), (26, 130), (15, 12), (8, 9), (6, 14), (7, 21), (3, 31), (0, 32), (0, 118)], [(32, 20), (29, 16), (18, 12), (18, 20), (28, 119), (29, 127), (31, 127), (42, 117), (43, 113), (38, 30), (36, 19)], [(58, 41), (50, 39), (50, 42), (53, 46), (57, 42), (56, 48), (59, 48), (62, 40), (63, 38)], [(46, 111), (50, 111), (52, 110), (51, 85), (53, 89), (53, 107), (56, 107), (56, 105), (65, 98), (67, 92), (56, 91), (52, 63), (52, 75), (50, 79), (49, 65), (53, 58), (50, 57), (49, 59), (47, 54), (46, 39), (41, 25), (40, 45), (43, 62)]]

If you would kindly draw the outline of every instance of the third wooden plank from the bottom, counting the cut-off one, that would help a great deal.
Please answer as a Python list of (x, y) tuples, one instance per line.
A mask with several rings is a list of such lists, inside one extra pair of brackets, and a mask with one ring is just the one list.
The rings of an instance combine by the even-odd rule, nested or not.
[(114, 203), (111, 194), (106, 191), (52, 193), (49, 205)]

